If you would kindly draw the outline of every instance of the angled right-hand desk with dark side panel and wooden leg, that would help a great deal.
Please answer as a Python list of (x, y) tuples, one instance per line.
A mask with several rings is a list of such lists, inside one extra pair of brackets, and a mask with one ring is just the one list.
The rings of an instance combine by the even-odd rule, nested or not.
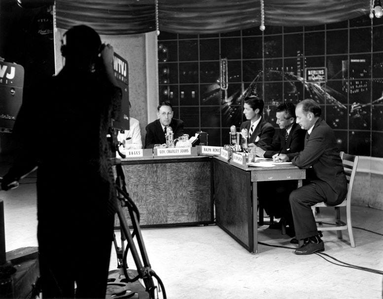
[(213, 158), (216, 224), (249, 252), (258, 252), (257, 182), (298, 180), (306, 171), (292, 164), (247, 167)]

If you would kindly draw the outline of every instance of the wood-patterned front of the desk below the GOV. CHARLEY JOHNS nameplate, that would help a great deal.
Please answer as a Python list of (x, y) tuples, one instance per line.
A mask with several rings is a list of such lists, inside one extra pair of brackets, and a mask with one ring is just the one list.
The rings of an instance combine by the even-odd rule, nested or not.
[[(120, 160), (141, 227), (214, 222), (211, 157)], [(128, 209), (123, 210), (131, 225)], [(119, 225), (116, 217), (114, 226)]]

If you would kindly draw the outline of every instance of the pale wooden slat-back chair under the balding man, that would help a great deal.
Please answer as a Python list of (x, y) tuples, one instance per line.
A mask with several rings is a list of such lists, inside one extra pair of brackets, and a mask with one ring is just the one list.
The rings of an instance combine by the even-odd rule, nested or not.
[[(324, 202), (320, 202), (313, 205), (312, 209), (318, 230), (336, 230), (338, 238), (342, 239), (342, 230), (348, 229), (351, 247), (355, 247), (351, 223), (351, 192), (359, 157), (341, 151), (341, 158), (348, 182), (348, 191), (345, 200), (337, 206), (327, 206)], [(321, 207), (335, 208), (335, 218), (320, 218), (319, 208)], [(340, 207), (346, 207), (346, 223), (341, 220)]]

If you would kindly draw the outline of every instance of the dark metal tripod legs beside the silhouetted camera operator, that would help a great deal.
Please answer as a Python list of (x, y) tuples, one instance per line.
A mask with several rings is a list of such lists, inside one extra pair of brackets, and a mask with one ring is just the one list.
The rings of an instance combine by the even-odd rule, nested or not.
[[(162, 291), (163, 299), (166, 299), (166, 292), (165, 292), (164, 285), (163, 285), (161, 279), (151, 269), (151, 266), (150, 266), (149, 258), (148, 258), (147, 253), (146, 253), (145, 245), (143, 243), (143, 239), (142, 239), (142, 235), (141, 235), (141, 230), (139, 227), (139, 210), (138, 210), (136, 204), (134, 203), (134, 201), (132, 200), (132, 198), (129, 196), (129, 193), (126, 191), (125, 175), (124, 175), (124, 171), (122, 169), (121, 160), (118, 158), (113, 158), (112, 159), (112, 165), (114, 165), (116, 167), (116, 174), (117, 174), (116, 189), (118, 192), (118, 199), (121, 202), (121, 205), (118, 205), (117, 211), (116, 211), (118, 219), (120, 221), (121, 240), (123, 241), (126, 238), (126, 240), (128, 242), (128, 244), (126, 246), (126, 250), (124, 252), (123, 245), (122, 245), (122, 249), (119, 250), (119, 248), (117, 247), (117, 242), (115, 240), (115, 236), (113, 237), (113, 244), (115, 246), (117, 255), (119, 253), (122, 253), (122, 255), (123, 255), (123, 259), (122, 259), (123, 264), (119, 265), (119, 267), (122, 266), (126, 281), (134, 282), (134, 281), (138, 280), (139, 278), (143, 280), (143, 283), (145, 285), (145, 291), (149, 294), (149, 299), (158, 298), (158, 297), (156, 297), (157, 287), (154, 285), (153, 278), (152, 278), (154, 276), (157, 279), (158, 284), (160, 285), (159, 291), (160, 292)], [(126, 223), (125, 214), (122, 211), (122, 207), (128, 208), (129, 215), (130, 215), (130, 218), (132, 221), (133, 233), (130, 232), (129, 226)], [(136, 236), (136, 238), (137, 238), (139, 251), (136, 248), (136, 245), (133, 241), (134, 236)], [(130, 278), (128, 275), (128, 272), (127, 272), (128, 265), (127, 265), (126, 259), (127, 259), (127, 254), (128, 254), (129, 248), (132, 252), (132, 257), (133, 257), (133, 260), (136, 264), (137, 271), (138, 271), (138, 276), (136, 276), (134, 278)], [(142, 262), (141, 262), (141, 260), (142, 260)], [(133, 289), (131, 286), (129, 286), (129, 288)], [(132, 296), (134, 294), (135, 293), (133, 293)], [(115, 295), (117, 295), (117, 297), (112, 296), (111, 298), (113, 298), (113, 297), (119, 298), (118, 294), (115, 294)], [(158, 295), (158, 293), (157, 293), (157, 295)], [(127, 297), (124, 297), (124, 298), (127, 298)]]

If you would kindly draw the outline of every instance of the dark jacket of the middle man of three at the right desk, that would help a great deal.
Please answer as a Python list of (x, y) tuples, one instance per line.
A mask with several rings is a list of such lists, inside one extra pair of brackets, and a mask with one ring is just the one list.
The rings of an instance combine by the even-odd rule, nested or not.
[(292, 153), (303, 150), (305, 146), (306, 130), (301, 129), (296, 122), (293, 123), (287, 140), (284, 139), (286, 129), (279, 130), (279, 134), (274, 138), (271, 145), (262, 147), (266, 150), (263, 154), (265, 158), (272, 158), (276, 153)]

